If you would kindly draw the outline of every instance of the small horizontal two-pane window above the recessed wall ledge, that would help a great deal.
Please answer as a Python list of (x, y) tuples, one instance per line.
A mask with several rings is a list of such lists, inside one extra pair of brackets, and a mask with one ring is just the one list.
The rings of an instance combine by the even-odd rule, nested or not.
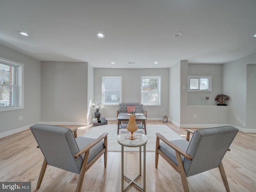
[(188, 91), (212, 91), (212, 76), (188, 76)]

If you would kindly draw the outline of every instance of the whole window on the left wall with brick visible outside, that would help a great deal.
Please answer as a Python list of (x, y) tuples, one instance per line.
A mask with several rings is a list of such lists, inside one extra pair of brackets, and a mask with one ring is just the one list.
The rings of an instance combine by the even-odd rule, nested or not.
[(0, 58), (0, 111), (23, 108), (23, 64)]

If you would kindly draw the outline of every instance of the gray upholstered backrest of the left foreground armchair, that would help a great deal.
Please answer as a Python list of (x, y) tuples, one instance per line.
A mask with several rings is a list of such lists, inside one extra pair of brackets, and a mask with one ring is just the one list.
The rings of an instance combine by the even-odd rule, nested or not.
[(83, 160), (74, 158), (79, 149), (69, 128), (35, 124), (30, 129), (49, 165), (80, 173)]

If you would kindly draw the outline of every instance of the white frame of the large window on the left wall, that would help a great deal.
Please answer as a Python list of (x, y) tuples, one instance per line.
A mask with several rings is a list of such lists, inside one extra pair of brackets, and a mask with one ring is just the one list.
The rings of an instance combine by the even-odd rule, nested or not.
[(24, 109), (24, 64), (0, 57), (0, 63), (14, 67), (14, 105), (0, 107), (0, 112)]

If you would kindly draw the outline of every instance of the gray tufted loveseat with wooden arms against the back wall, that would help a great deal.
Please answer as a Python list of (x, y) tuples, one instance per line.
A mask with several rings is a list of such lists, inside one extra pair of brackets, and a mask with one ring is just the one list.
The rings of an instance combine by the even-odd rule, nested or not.
[(147, 111), (143, 109), (143, 104), (140, 103), (120, 103), (119, 110), (116, 112), (116, 118), (118, 115), (128, 115), (127, 106), (135, 106), (135, 115), (144, 115), (147, 118)]

